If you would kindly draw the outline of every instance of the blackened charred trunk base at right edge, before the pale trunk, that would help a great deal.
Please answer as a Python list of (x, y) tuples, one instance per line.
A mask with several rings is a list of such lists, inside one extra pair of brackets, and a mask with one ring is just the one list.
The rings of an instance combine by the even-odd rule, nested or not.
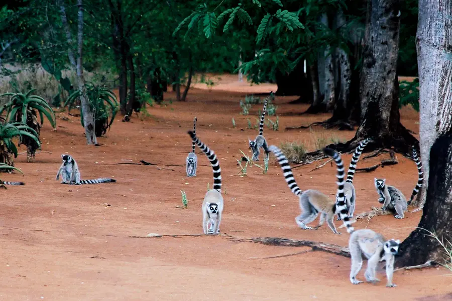
[[(422, 0), (419, 2), (419, 9), (421, 2)], [(419, 67), (420, 69), (421, 67)], [(448, 112), (452, 113), (450, 107)], [(450, 123), (448, 128), (450, 130)], [(445, 243), (451, 241), (452, 238), (450, 233), (450, 229), (452, 229), (452, 194), (450, 193), (452, 191), (452, 177), (450, 177), (452, 174), (452, 132), (436, 138), (429, 155), (429, 180), (422, 218), (418, 228), (411, 232), (410, 236), (400, 245), (401, 257), (396, 262), (396, 265), (400, 267), (418, 265), (428, 260), (439, 263), (444, 262), (445, 259), (450, 261), (450, 258), (445, 258), (445, 250), (439, 242), (428, 235), (434, 233), (439, 240)], [(450, 248), (449, 245), (446, 246)]]

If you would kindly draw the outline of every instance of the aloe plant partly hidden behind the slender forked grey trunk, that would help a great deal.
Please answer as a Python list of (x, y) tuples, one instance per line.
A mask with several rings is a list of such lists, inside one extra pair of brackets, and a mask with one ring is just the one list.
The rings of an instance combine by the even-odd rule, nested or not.
[[(110, 128), (115, 116), (118, 112), (118, 101), (115, 93), (105, 87), (95, 86), (93, 84), (86, 84), (86, 91), (88, 93), (89, 105), (94, 113), (95, 134), (97, 137), (106, 133)], [(64, 107), (69, 106), (69, 111), (77, 105), (76, 100), (80, 97), (80, 91), (74, 91), (66, 99)], [(109, 111), (111, 110), (111, 116)], [(108, 120), (109, 119), (109, 120)], [(80, 122), (83, 124), (83, 112), (80, 110)]]

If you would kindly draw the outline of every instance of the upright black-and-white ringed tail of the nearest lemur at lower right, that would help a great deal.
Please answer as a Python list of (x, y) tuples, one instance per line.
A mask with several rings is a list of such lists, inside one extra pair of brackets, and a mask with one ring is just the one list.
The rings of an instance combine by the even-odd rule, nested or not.
[(344, 194), (344, 178), (345, 178), (345, 169), (344, 162), (341, 159), (341, 155), (339, 155), (335, 150), (331, 148), (323, 148), (323, 153), (334, 159), (334, 163), (336, 164), (337, 169), (337, 194), (336, 194), (336, 210), (339, 217), (344, 221), (344, 225), (347, 227), (347, 232), (352, 233), (355, 229), (352, 227), (352, 223), (350, 222), (350, 218), (348, 217), (349, 209), (347, 208), (346, 198)]

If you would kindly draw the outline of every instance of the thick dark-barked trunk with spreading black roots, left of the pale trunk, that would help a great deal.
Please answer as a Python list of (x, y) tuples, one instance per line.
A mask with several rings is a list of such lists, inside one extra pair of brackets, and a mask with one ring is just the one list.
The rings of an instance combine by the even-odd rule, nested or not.
[[(366, 149), (394, 147), (411, 157), (411, 146), (418, 141), (400, 123), (397, 55), (400, 27), (399, 0), (371, 0), (371, 17), (366, 25), (366, 39), (361, 72), (361, 124), (355, 137), (335, 145), (337, 150), (352, 150), (364, 138), (373, 141)], [(330, 145), (334, 147), (334, 145)]]

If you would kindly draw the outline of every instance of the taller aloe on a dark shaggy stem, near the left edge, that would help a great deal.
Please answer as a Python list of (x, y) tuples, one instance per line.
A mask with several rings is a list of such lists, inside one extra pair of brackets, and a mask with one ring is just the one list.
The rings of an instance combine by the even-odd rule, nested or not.
[[(32, 132), (39, 140), (41, 133), (41, 126), (44, 123), (44, 116), (49, 120), (53, 128), (56, 126), (56, 118), (53, 109), (49, 106), (44, 98), (32, 94), (36, 89), (32, 89), (27, 93), (10, 92), (0, 95), (10, 96), (10, 100), (0, 109), (0, 115), (7, 112), (6, 121), (21, 122), (28, 125)], [(38, 121), (38, 114), (41, 122)], [(23, 130), (28, 130), (23, 128)], [(33, 162), (35, 158), (36, 149), (39, 144), (36, 144), (34, 139), (24, 136), (23, 144), (27, 145), (27, 162)]]

